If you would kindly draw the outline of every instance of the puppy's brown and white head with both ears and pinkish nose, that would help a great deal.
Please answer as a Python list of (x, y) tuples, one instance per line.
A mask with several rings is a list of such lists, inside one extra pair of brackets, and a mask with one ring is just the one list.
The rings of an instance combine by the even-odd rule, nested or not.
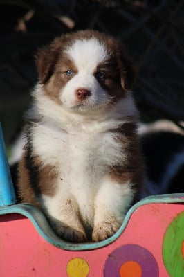
[(97, 31), (57, 37), (39, 50), (36, 62), (46, 96), (77, 112), (111, 107), (134, 83), (134, 66), (122, 46)]

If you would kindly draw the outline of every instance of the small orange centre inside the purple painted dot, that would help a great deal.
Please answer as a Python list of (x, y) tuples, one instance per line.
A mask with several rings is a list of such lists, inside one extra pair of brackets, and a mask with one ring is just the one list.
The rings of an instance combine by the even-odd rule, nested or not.
[(130, 260), (120, 267), (120, 277), (141, 277), (142, 269), (138, 262)]

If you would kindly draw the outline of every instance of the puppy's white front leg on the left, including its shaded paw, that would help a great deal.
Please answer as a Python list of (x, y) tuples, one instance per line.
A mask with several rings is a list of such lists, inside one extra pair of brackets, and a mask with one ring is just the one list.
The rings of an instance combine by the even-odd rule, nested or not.
[(42, 199), (48, 220), (59, 237), (70, 242), (86, 241), (79, 208), (72, 195), (44, 195)]

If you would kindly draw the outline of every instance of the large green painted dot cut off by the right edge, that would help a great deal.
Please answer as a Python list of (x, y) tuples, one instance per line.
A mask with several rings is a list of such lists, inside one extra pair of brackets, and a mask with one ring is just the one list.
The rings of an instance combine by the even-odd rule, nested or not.
[(170, 277), (184, 276), (184, 211), (169, 224), (163, 239), (163, 261)]

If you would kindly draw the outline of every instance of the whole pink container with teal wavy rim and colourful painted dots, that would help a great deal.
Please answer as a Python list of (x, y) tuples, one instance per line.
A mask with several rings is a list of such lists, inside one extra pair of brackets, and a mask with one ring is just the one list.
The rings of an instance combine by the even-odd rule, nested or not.
[(184, 195), (147, 197), (120, 230), (99, 243), (57, 238), (27, 204), (0, 208), (1, 277), (182, 277)]

